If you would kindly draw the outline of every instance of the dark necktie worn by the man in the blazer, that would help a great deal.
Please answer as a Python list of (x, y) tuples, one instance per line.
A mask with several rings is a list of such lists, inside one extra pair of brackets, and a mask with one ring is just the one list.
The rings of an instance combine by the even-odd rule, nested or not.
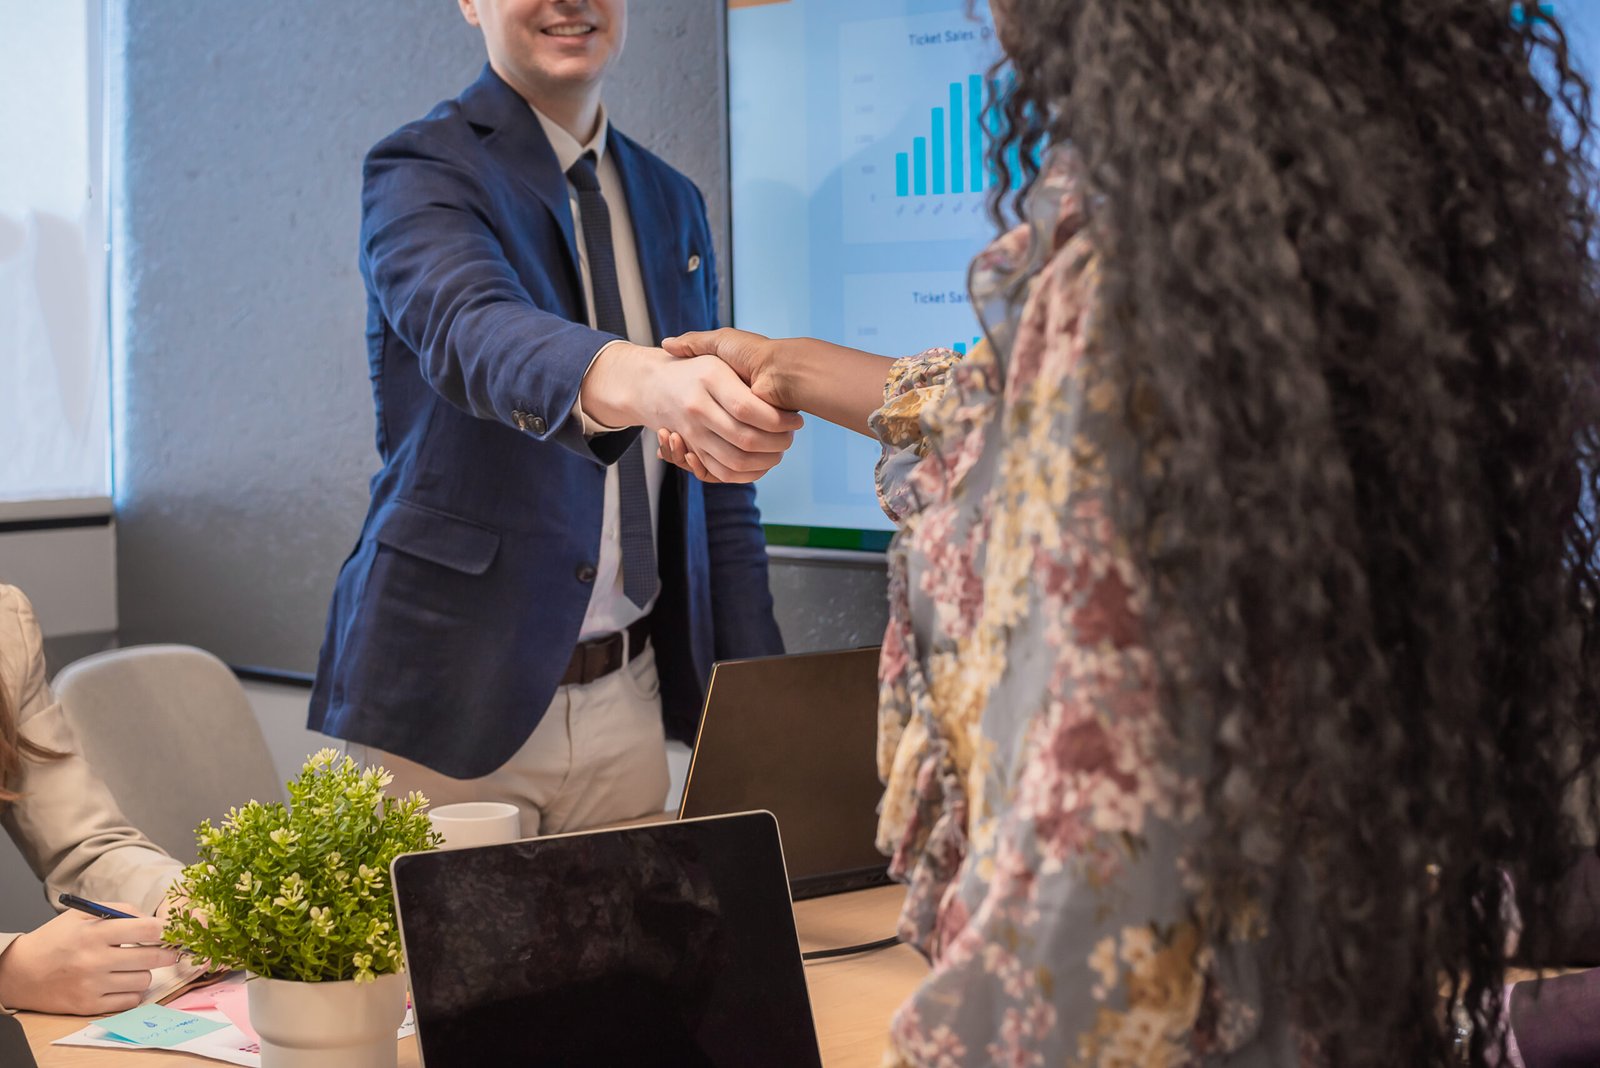
[[(627, 337), (622, 315), (622, 289), (616, 281), (616, 249), (611, 245), (611, 209), (605, 206), (595, 157), (586, 153), (568, 181), (578, 190), (578, 214), (584, 224), (584, 251), (589, 254), (589, 285), (594, 288), (595, 326), (608, 334)], [(645, 608), (661, 585), (656, 571), (656, 542), (650, 523), (650, 489), (645, 486), (645, 446), (634, 440), (616, 462), (619, 520), (622, 526), (622, 595)]]

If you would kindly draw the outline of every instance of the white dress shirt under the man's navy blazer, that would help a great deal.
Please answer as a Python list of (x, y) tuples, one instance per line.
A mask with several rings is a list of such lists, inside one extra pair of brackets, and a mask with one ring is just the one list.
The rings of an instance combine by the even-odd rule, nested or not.
[[(638, 243), (634, 240), (634, 216), (627, 209), (627, 193), (622, 192), (622, 176), (618, 174), (616, 161), (606, 155), (605, 136), (610, 126), (605, 109), (600, 109), (600, 122), (587, 144), (579, 144), (576, 137), (562, 130), (552, 118), (533, 109), (544, 136), (555, 149), (562, 173), (571, 169), (573, 163), (584, 153), (595, 153), (595, 171), (600, 177), (600, 192), (605, 195), (606, 209), (611, 213), (611, 249), (616, 257), (616, 283), (622, 294), (622, 318), (627, 323), (627, 341), (635, 345), (654, 345), (656, 339), (650, 331), (650, 305), (645, 302), (645, 277), (638, 269)], [(578, 237), (578, 269), (582, 273), (584, 301), (589, 305), (589, 325), (595, 323), (595, 291), (589, 277), (589, 251), (584, 248), (584, 221), (578, 209), (578, 190), (566, 182), (566, 203), (573, 211), (573, 227)], [(613, 342), (614, 344), (614, 342)], [(603, 352), (603, 347), (602, 347)], [(597, 352), (595, 357), (600, 353)], [(582, 422), (586, 435), (605, 433), (614, 427), (605, 427), (589, 419), (582, 411), (582, 403), (573, 404), (573, 414)], [(661, 560), (661, 480), (666, 467), (656, 457), (656, 428), (643, 428), (645, 446), (645, 486), (650, 491), (650, 531), (656, 540), (656, 560)], [(658, 595), (659, 596), (659, 595)], [(634, 620), (646, 616), (656, 606), (656, 598), (650, 604), (638, 608), (622, 593), (622, 521), (621, 521), (621, 489), (616, 465), (605, 473), (605, 515), (600, 524), (600, 558), (595, 561), (595, 585), (589, 595), (589, 611), (584, 612), (584, 625), (579, 638), (595, 638), (622, 630)]]

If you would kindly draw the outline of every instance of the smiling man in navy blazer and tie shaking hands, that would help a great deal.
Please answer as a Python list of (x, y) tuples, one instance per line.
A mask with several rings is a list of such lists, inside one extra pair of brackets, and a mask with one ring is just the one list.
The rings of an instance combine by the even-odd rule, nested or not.
[(459, 3), (483, 75), (366, 157), (382, 468), (309, 726), (533, 835), (659, 811), (712, 660), (782, 651), (747, 483), (798, 417), (656, 347), (715, 325), (717, 270), (699, 190), (600, 104), (627, 0)]

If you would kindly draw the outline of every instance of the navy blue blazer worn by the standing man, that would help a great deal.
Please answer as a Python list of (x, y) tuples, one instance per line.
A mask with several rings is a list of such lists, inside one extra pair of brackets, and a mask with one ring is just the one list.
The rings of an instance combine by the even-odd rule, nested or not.
[[(656, 339), (717, 323), (693, 182), (614, 128)], [(595, 352), (562, 174), (493, 70), (368, 153), (371, 507), (333, 592), (309, 726), (458, 779), (504, 764), (578, 643), (606, 465), (638, 428), (571, 417)], [(782, 651), (749, 486), (669, 467), (653, 643), (662, 713), (693, 740), (714, 659)]]

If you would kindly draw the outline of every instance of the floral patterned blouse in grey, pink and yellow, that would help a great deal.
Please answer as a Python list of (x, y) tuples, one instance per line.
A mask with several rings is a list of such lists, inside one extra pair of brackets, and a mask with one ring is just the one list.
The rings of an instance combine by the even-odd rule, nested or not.
[(1131, 443), (1069, 153), (1026, 214), (971, 267), (987, 341), (898, 361), (872, 417), (901, 524), (878, 846), (933, 964), (886, 1063), (1294, 1065), (1264, 916), (1211, 950), (1184, 878), (1203, 766), (1170, 737), (1109, 520), (1102, 460)]

